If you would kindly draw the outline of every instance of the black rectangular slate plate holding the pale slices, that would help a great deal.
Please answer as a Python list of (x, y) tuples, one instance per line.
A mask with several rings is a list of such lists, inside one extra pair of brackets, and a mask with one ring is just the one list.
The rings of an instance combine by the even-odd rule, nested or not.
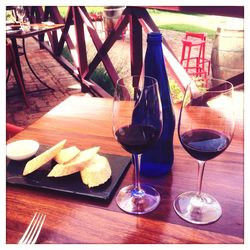
[[(37, 155), (47, 148), (48, 147), (41, 145)], [(109, 160), (112, 176), (106, 183), (95, 188), (88, 188), (84, 185), (79, 172), (65, 177), (47, 177), (49, 171), (56, 164), (53, 160), (27, 176), (23, 176), (22, 173), (28, 160), (7, 160), (7, 183), (110, 200), (130, 165), (130, 158), (111, 154), (101, 155), (107, 157)]]

